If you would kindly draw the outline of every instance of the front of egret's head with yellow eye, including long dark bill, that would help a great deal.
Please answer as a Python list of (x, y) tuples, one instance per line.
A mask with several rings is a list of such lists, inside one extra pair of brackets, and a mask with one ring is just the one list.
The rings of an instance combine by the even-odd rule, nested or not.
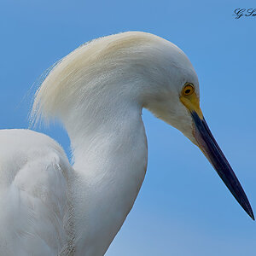
[(188, 57), (176, 45), (162, 38), (157, 39), (148, 55), (144, 60), (148, 62), (146, 76), (149, 79), (144, 80), (153, 89), (152, 93), (145, 92), (144, 107), (183, 132), (201, 149), (236, 201), (254, 219), (247, 195), (204, 119), (199, 82)]

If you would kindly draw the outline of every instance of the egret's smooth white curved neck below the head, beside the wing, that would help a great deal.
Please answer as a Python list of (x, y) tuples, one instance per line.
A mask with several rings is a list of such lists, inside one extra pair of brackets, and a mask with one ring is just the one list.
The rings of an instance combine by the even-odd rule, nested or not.
[(106, 252), (131, 211), (147, 167), (142, 108), (120, 98), (102, 102), (104, 108), (97, 102), (66, 123), (74, 156), (78, 255)]

